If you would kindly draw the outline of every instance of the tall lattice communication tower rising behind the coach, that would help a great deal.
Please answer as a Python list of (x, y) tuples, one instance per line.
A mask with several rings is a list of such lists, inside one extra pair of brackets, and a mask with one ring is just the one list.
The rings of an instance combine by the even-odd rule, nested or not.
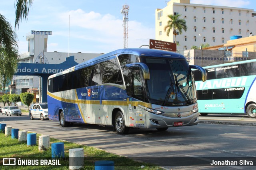
[(128, 48), (128, 12), (129, 5), (125, 3), (121, 10), (121, 14), (123, 14), (123, 27), (124, 27), (124, 48)]

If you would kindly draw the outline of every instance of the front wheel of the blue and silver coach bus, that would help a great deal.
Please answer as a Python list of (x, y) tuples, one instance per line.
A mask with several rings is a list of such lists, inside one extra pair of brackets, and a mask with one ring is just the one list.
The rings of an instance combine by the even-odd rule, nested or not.
[(125, 126), (124, 115), (120, 111), (116, 113), (115, 128), (118, 134), (127, 134), (129, 131), (129, 127)]

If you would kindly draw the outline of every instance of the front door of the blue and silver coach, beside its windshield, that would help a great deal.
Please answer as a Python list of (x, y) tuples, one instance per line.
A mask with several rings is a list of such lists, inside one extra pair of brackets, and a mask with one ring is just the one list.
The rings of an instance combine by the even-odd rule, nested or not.
[(128, 102), (130, 127), (146, 128), (145, 110), (138, 107), (144, 106), (144, 90), (140, 71), (131, 72), (131, 96)]

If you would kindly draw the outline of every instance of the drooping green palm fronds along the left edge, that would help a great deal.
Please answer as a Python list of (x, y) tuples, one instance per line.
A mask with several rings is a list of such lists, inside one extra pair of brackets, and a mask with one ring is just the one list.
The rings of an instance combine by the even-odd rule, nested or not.
[[(27, 20), (33, 0), (16, 0), (15, 29), (22, 19)], [(16, 32), (10, 22), (0, 14), (0, 89), (12, 79), (18, 65), (18, 43)]]

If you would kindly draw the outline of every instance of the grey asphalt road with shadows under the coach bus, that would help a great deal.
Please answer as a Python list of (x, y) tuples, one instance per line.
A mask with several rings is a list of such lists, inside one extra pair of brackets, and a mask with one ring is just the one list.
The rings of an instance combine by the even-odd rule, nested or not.
[[(30, 120), (28, 115), (0, 115), (0, 122), (13, 128), (49, 134), (54, 138), (93, 146), (136, 160), (144, 158), (146, 162), (154, 162), (168, 169), (255, 169), (239, 165), (213, 167), (210, 163), (213, 158), (256, 157), (256, 119), (207, 116), (200, 117), (199, 120), (197, 126), (174, 127), (162, 132), (154, 129), (131, 129), (129, 134), (119, 135), (111, 126), (76, 124), (73, 127), (61, 127), (54, 121)], [(230, 123), (224, 124), (225, 122)], [(232, 125), (239, 122), (242, 125)], [(203, 160), (209, 162), (209, 166), (168, 164), (168, 160), (178, 162), (183, 159)]]

